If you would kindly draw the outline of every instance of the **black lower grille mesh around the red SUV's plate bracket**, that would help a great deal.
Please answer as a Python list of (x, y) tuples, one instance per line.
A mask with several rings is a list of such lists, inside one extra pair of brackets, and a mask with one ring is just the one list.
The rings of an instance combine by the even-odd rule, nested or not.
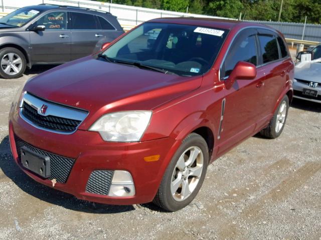
[(57, 182), (65, 183), (69, 176), (72, 166), (74, 165), (75, 159), (68, 158), (60, 155), (50, 153), (48, 151), (41, 150), (36, 148), (24, 140), (16, 136), (16, 146), (18, 151), (19, 159), (21, 160), (21, 148), (26, 146), (30, 150), (37, 152), (39, 154), (50, 157), (50, 177), (49, 179), (56, 179)]

